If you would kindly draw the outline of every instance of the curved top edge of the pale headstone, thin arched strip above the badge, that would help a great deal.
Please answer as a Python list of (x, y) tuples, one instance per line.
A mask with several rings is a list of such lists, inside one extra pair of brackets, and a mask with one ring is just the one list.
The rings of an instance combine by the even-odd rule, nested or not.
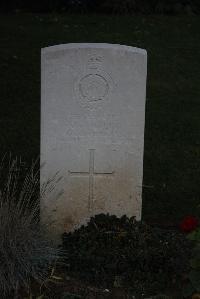
[(69, 43), (69, 44), (60, 44), (55, 46), (49, 46), (42, 48), (42, 52), (54, 52), (59, 50), (68, 50), (68, 49), (114, 49), (114, 50), (124, 50), (137, 54), (147, 55), (147, 51), (141, 48), (136, 48), (132, 46), (120, 45), (120, 44), (107, 44), (107, 43)]

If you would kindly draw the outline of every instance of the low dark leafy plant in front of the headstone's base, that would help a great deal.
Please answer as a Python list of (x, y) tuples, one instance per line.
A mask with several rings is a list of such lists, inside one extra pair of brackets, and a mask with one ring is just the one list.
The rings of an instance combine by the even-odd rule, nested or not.
[(126, 216), (96, 215), (87, 226), (63, 234), (69, 271), (90, 283), (131, 287), (138, 294), (181, 284), (190, 246), (177, 231)]

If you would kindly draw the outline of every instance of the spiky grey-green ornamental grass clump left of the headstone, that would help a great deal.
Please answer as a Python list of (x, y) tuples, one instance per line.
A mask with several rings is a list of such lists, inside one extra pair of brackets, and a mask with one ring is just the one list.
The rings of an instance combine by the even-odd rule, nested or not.
[[(61, 254), (47, 238), (47, 227), (39, 224), (38, 163), (22, 173), (23, 168), (8, 156), (0, 163), (1, 298), (28, 289), (31, 279), (42, 283)], [(42, 186), (41, 197), (52, 188), (48, 182)]]

